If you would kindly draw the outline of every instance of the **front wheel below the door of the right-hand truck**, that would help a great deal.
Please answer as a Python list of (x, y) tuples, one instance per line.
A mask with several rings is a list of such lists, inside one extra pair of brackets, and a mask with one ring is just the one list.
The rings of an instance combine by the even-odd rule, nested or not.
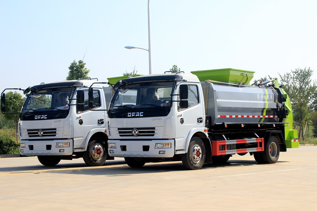
[(204, 142), (193, 137), (188, 146), (188, 152), (182, 155), (183, 165), (189, 170), (198, 170), (204, 165), (206, 149)]

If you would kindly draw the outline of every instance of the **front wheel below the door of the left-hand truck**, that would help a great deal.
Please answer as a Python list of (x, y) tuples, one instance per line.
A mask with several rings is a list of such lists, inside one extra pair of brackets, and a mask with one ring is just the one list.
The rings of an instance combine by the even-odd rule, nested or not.
[(99, 137), (93, 138), (87, 146), (87, 151), (83, 154), (85, 163), (89, 166), (101, 166), (105, 163), (108, 152), (105, 141)]

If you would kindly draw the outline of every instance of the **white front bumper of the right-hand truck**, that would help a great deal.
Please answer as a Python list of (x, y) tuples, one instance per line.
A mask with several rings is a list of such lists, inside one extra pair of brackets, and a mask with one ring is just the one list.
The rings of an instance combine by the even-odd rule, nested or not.
[[(138, 157), (138, 158), (171, 158), (175, 154), (174, 140), (108, 140), (108, 154), (112, 157)], [(156, 143), (170, 143), (171, 148), (155, 148)], [(161, 153), (160, 153), (161, 151)], [(162, 151), (165, 151), (162, 153)]]

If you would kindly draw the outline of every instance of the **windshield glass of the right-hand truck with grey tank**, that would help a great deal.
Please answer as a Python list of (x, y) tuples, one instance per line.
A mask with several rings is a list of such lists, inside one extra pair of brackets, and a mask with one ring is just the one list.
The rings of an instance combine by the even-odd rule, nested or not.
[(169, 108), (173, 82), (123, 84), (115, 92), (110, 109)]

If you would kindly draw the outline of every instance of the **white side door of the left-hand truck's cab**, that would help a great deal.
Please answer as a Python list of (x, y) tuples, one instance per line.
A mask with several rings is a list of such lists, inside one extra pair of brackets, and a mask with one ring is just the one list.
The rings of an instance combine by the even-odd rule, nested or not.
[(93, 128), (106, 127), (106, 109), (104, 94), (101, 89), (93, 91), (93, 108), (88, 106), (88, 89), (83, 89), (85, 94), (85, 110), (75, 110), (74, 114), (74, 148), (84, 148), (87, 135)]

